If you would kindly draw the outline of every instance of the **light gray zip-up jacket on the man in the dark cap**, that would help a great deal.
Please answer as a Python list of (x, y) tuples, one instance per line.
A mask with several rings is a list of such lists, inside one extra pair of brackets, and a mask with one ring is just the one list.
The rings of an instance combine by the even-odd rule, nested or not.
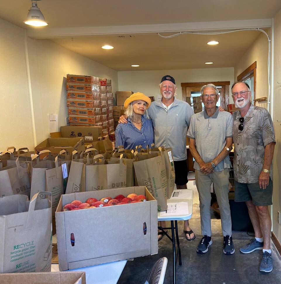
[(153, 122), (155, 146), (172, 148), (175, 161), (186, 160), (186, 134), (194, 114), (191, 106), (175, 98), (173, 105), (166, 111), (160, 99), (152, 102), (147, 112)]

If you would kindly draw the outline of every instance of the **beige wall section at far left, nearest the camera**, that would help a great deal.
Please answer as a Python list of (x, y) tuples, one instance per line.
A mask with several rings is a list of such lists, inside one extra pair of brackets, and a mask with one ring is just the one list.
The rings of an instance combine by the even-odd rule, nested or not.
[(25, 32), (0, 19), (0, 151), (33, 148)]

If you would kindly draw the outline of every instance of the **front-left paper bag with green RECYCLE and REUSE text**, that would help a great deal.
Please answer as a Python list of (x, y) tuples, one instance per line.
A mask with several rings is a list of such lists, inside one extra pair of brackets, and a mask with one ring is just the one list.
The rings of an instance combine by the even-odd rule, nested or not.
[[(51, 193), (0, 199), (0, 273), (51, 271)], [(45, 198), (46, 197), (46, 198)]]

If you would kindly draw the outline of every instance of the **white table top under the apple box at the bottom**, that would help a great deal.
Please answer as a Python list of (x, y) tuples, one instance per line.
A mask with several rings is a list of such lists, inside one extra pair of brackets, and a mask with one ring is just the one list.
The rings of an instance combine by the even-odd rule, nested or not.
[[(85, 271), (87, 284), (116, 284), (126, 263), (121, 260), (67, 271)], [(52, 264), (51, 271), (59, 271), (58, 264)]]

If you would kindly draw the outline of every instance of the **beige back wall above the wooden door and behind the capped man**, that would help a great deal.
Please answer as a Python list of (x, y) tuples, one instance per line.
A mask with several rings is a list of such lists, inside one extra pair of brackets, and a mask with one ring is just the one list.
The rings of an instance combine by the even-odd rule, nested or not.
[(159, 83), (165, 75), (175, 78), (177, 85), (177, 98), (182, 99), (181, 83), (230, 81), (234, 80), (233, 68), (213, 69), (184, 69), (184, 70), (156, 70), (156, 71), (119, 71), (118, 85), (120, 91), (141, 92), (157, 99)]

